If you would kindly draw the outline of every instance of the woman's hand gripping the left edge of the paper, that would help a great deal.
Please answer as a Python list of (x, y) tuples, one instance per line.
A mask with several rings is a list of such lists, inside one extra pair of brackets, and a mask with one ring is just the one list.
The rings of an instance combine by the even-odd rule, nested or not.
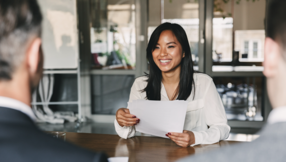
[(116, 120), (121, 127), (135, 126), (140, 122), (140, 119), (130, 114), (128, 108), (119, 108), (116, 111)]

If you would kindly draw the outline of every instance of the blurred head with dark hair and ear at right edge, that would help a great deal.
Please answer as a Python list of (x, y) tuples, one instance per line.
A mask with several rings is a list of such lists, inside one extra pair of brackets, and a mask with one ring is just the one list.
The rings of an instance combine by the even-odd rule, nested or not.
[[(286, 106), (286, 0), (272, 0), (267, 14), (264, 71), (273, 108)], [(285, 116), (286, 118), (286, 116)]]

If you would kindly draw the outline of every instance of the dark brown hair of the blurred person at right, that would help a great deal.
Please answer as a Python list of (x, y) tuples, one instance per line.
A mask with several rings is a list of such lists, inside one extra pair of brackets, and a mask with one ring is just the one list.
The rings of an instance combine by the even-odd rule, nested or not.
[(286, 50), (286, 0), (270, 0), (266, 15), (266, 34)]

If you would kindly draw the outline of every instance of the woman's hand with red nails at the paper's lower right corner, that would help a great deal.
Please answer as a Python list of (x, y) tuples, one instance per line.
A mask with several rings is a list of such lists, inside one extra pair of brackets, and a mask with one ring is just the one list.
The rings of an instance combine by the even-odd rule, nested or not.
[(191, 131), (184, 130), (183, 133), (170, 132), (166, 136), (182, 147), (188, 147), (196, 142), (195, 135)]

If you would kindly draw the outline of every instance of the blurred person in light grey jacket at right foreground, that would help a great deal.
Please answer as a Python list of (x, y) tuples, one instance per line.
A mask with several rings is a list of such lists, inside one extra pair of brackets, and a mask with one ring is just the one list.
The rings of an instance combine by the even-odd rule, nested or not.
[(274, 108), (256, 140), (179, 162), (286, 161), (286, 0), (271, 0), (267, 13), (264, 72)]

